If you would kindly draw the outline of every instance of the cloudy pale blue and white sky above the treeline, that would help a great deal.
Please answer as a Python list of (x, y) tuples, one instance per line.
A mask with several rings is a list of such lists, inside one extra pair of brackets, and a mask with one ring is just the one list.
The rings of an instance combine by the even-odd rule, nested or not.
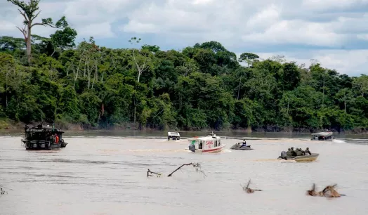
[[(27, 1), (27, 0), (26, 0)], [(62, 15), (100, 46), (143, 44), (162, 50), (219, 41), (229, 51), (256, 53), (349, 75), (368, 74), (368, 0), (41, 0), (41, 18)], [(22, 37), (17, 7), (0, 0), (0, 36)], [(55, 29), (36, 26), (48, 37)]]

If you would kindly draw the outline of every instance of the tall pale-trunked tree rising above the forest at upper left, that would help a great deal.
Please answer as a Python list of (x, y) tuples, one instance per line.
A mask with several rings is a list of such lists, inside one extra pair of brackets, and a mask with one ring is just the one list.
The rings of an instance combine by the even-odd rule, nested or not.
[(63, 16), (56, 24), (53, 24), (53, 20), (51, 18), (42, 19), (41, 22), (35, 22), (34, 19), (37, 18), (39, 13), (39, 1), (41, 0), (30, 0), (28, 3), (25, 1), (20, 0), (7, 0), (10, 1), (15, 6), (18, 6), (19, 13), (25, 18), (23, 21), (24, 26), (22, 28), (17, 27), (20, 32), (22, 32), (23, 36), (25, 37), (25, 44), (27, 47), (27, 59), (28, 63), (31, 63), (32, 56), (31, 56), (31, 30), (32, 27), (35, 25), (43, 25), (43, 26), (50, 26), (50, 27), (65, 27), (65, 16)]

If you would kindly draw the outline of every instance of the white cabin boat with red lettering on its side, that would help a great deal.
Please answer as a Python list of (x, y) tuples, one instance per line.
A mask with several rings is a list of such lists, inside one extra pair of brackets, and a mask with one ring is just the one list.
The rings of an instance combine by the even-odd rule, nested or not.
[(202, 154), (204, 152), (218, 153), (223, 150), (226, 144), (221, 143), (221, 137), (216, 136), (213, 132), (208, 136), (196, 136), (188, 138), (189, 150)]

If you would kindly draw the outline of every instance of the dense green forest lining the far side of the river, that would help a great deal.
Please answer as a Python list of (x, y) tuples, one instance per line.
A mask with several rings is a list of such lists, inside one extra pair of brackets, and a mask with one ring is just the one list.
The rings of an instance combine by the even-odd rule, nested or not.
[[(84, 129), (367, 131), (368, 76), (349, 77), (282, 56), (239, 58), (217, 41), (162, 51), (106, 48), (65, 17), (31, 23), (39, 0), (8, 0), (25, 17), (24, 38), (0, 37), (1, 122), (55, 122)], [(10, 3), (9, 3), (10, 4)], [(30, 31), (55, 27), (50, 37)], [(20, 34), (20, 35), (22, 35)], [(1, 35), (0, 35), (1, 36)], [(243, 66), (240, 63), (244, 63)]]

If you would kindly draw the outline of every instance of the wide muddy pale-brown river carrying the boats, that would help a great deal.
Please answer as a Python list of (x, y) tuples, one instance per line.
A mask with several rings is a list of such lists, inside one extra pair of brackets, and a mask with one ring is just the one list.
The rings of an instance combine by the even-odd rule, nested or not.
[[(226, 149), (209, 155), (192, 154), (187, 140), (167, 141), (164, 133), (70, 133), (67, 147), (52, 151), (27, 151), (20, 136), (0, 136), (0, 185), (8, 192), (0, 214), (367, 214), (366, 136), (322, 142), (278, 135), (247, 135), (249, 151), (230, 150), (245, 134), (227, 136)], [(275, 159), (291, 146), (320, 157)], [(167, 177), (190, 162), (206, 176), (183, 167)], [(147, 178), (147, 169), (162, 177)], [(263, 191), (244, 193), (249, 179)], [(318, 190), (337, 183), (346, 196), (307, 196), (312, 183)]]

